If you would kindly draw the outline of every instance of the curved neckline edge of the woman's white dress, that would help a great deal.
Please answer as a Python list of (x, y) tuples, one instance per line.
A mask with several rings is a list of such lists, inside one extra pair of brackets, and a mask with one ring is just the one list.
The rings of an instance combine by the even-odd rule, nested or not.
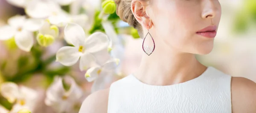
[(206, 76), (209, 72), (209, 70), (213, 68), (211, 66), (207, 67), (207, 69), (198, 77), (194, 78), (194, 79), (190, 79), (186, 82), (181, 82), (181, 83), (178, 83), (178, 84), (174, 84), (174, 85), (149, 85), (149, 84), (146, 84), (142, 81), (140, 81), (139, 79), (137, 79), (137, 77), (134, 76), (134, 73), (131, 73), (131, 78), (134, 79), (135, 82), (137, 82), (138, 84), (140, 85), (144, 85), (144, 86), (148, 86), (148, 87), (175, 87), (175, 86), (180, 86), (180, 85), (186, 85), (186, 84), (189, 84), (191, 82), (196, 82), (198, 80), (200, 80), (201, 78), (203, 78), (203, 76)]

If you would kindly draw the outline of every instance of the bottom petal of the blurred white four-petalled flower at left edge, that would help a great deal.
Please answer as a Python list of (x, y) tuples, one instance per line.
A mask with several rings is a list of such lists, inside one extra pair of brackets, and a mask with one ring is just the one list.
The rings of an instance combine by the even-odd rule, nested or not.
[(16, 45), (23, 51), (30, 51), (34, 44), (33, 34), (29, 31), (22, 30), (15, 35)]

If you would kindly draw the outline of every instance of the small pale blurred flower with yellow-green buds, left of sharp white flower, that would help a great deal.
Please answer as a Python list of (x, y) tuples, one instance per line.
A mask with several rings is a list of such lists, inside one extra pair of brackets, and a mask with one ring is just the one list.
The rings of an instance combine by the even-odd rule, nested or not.
[(55, 38), (59, 35), (59, 29), (55, 25), (50, 25), (49, 22), (45, 22), (44, 25), (39, 29), (37, 35), (37, 41), (41, 46), (51, 45)]

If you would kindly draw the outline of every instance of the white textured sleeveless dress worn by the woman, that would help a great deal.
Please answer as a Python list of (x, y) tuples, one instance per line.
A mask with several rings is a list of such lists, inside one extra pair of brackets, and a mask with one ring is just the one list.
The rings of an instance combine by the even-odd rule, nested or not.
[(148, 85), (133, 74), (111, 84), (108, 113), (232, 113), (231, 76), (208, 67), (175, 85)]

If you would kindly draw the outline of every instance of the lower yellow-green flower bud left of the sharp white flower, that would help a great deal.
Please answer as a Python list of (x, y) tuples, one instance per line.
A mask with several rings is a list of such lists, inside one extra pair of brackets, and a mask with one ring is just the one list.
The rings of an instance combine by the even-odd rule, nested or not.
[(54, 37), (52, 35), (43, 35), (43, 34), (38, 34), (37, 36), (37, 41), (39, 43), (39, 45), (41, 46), (49, 46), (54, 42)]

